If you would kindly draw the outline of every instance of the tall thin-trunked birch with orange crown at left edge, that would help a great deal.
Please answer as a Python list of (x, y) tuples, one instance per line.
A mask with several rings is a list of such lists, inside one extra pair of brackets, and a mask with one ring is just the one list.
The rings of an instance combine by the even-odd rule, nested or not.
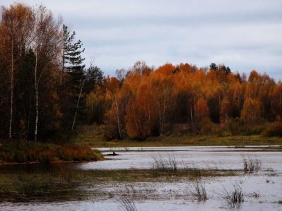
[(9, 120), (9, 138), (12, 138), (12, 122), (14, 110), (14, 88), (16, 74), (16, 59), (24, 51), (24, 45), (28, 45), (30, 40), (27, 39), (30, 28), (33, 23), (32, 11), (23, 4), (11, 5), (10, 8), (1, 8), (0, 24), (0, 46), (2, 47), (1, 55), (6, 68), (10, 73), (10, 120)]

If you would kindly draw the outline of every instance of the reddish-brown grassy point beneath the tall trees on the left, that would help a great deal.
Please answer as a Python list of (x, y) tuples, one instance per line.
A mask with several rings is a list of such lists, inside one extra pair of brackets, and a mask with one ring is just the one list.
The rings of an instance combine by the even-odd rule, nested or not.
[(78, 144), (57, 145), (27, 140), (2, 140), (1, 143), (0, 163), (97, 161), (103, 158), (98, 150)]

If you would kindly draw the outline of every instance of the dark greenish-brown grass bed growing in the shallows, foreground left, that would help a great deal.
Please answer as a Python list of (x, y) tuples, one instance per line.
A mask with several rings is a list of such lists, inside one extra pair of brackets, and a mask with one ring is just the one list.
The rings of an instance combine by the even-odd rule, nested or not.
[[(66, 164), (5, 166), (7, 171), (0, 173), (0, 201), (69, 201), (91, 198), (112, 198), (122, 195), (140, 196), (140, 189), (135, 184), (146, 182), (172, 182), (197, 179), (193, 170), (177, 169), (171, 172), (154, 169), (128, 170), (70, 170)], [(9, 172), (9, 173), (7, 173)], [(201, 170), (205, 177), (236, 175), (232, 170)], [(117, 191), (110, 187), (120, 186)], [(142, 186), (142, 188), (144, 188)], [(155, 197), (152, 187), (145, 192)], [(150, 197), (151, 197), (150, 196)], [(142, 196), (143, 197), (143, 196)], [(144, 196), (146, 197), (146, 195)], [(149, 196), (148, 196), (149, 197)]]

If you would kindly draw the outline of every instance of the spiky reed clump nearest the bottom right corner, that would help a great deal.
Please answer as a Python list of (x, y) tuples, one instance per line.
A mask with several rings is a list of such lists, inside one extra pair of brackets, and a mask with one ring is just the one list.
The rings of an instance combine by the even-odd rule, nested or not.
[(230, 208), (241, 208), (241, 202), (244, 202), (244, 195), (242, 187), (235, 183), (233, 184), (232, 192), (228, 192), (224, 187), (224, 190), (221, 193), (217, 193), (226, 201), (226, 205)]

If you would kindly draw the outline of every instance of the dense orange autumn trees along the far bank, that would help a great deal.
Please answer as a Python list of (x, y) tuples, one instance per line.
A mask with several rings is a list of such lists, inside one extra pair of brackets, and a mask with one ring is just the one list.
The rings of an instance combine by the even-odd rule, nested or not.
[(281, 117), (282, 83), (267, 74), (232, 73), (225, 65), (209, 68), (167, 63), (157, 69), (145, 62), (106, 77), (86, 103), (104, 111), (101, 129), (108, 139), (145, 139), (172, 132), (231, 135)]

